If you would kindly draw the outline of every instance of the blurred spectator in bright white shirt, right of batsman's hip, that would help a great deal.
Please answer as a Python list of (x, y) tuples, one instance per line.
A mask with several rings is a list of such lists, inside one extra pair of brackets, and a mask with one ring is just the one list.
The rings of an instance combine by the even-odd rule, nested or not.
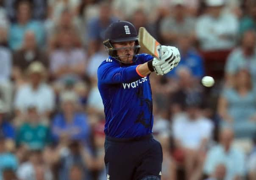
[(213, 122), (202, 116), (200, 101), (199, 94), (187, 96), (184, 115), (173, 118), (174, 156), (184, 163), (186, 180), (200, 178), (214, 128)]

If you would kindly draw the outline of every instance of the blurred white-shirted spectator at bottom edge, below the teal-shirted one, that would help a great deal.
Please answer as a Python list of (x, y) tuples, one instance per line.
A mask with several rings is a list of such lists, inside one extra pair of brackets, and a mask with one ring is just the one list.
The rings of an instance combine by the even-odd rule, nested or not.
[(42, 151), (30, 150), (28, 161), (20, 164), (17, 176), (19, 180), (39, 180), (36, 178), (38, 173), (41, 173), (42, 180), (53, 180), (52, 172), (47, 166), (44, 166)]

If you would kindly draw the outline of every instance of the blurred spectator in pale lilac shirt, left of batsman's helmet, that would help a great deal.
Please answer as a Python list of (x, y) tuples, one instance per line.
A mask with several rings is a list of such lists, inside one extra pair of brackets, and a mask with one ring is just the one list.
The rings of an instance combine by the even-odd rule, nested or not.
[(61, 30), (58, 34), (58, 46), (50, 54), (50, 71), (53, 79), (64, 82), (67, 78), (81, 80), (85, 75), (86, 52), (78, 45), (74, 31)]

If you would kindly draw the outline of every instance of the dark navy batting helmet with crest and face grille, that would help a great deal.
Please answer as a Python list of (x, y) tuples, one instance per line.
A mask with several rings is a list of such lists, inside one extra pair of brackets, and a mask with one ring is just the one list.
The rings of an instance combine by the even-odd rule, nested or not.
[(109, 25), (105, 32), (105, 40), (103, 44), (109, 56), (120, 61), (120, 56), (117, 56), (117, 50), (125, 48), (114, 48), (113, 43), (125, 41), (135, 41), (134, 56), (139, 53), (139, 40), (136, 28), (128, 21), (117, 21)]

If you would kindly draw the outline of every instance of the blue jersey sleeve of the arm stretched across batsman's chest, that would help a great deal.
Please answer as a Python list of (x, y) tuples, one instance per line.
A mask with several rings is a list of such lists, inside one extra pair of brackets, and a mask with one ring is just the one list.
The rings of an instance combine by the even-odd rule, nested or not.
[(136, 72), (137, 66), (138, 65), (120, 67), (118, 64), (111, 62), (102, 63), (97, 71), (98, 81), (105, 84), (131, 83), (137, 81), (142, 78)]

